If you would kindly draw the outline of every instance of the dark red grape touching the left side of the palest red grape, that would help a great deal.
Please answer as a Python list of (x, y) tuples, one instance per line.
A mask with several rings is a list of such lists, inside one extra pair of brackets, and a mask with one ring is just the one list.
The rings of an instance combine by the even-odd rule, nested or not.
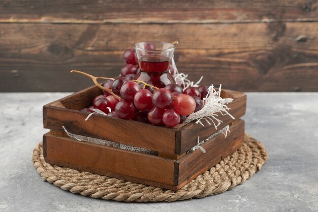
[(172, 104), (172, 101), (172, 94), (166, 88), (157, 89), (152, 94), (152, 103), (157, 108), (169, 108)]

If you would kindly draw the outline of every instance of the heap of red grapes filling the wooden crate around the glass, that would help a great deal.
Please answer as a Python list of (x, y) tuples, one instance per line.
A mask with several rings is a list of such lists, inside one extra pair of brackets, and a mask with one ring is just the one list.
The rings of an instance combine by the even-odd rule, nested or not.
[[(202, 99), (208, 93), (208, 86), (183, 90), (178, 84), (169, 84), (157, 88), (149, 82), (134, 80), (140, 71), (134, 49), (126, 50), (123, 60), (125, 65), (120, 76), (102, 84), (113, 94), (103, 90), (103, 95), (93, 99), (92, 106), (81, 111), (91, 113), (97, 108), (114, 118), (174, 127), (183, 123), (186, 116), (203, 108)], [(173, 72), (173, 69), (170, 68), (170, 71)]]

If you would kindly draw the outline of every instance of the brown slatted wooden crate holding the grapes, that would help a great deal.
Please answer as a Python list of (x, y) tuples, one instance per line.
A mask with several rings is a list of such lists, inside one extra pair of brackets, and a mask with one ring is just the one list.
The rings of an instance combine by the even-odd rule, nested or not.
[[(101, 90), (92, 86), (43, 107), (44, 128), (51, 130), (43, 138), (48, 163), (177, 190), (243, 142), (244, 121), (239, 117), (245, 114), (244, 93), (222, 90), (222, 97), (234, 99), (228, 106), (235, 120), (218, 116), (223, 122), (218, 130), (230, 125), (231, 132), (226, 138), (220, 133), (202, 144), (205, 154), (201, 150), (186, 152), (197, 144), (198, 136), (202, 141), (214, 134), (217, 130), (213, 125), (192, 122), (168, 128), (99, 114), (85, 121), (88, 114), (79, 110), (100, 94)], [(150, 149), (157, 155), (76, 141), (67, 137), (62, 126), (74, 134)]]

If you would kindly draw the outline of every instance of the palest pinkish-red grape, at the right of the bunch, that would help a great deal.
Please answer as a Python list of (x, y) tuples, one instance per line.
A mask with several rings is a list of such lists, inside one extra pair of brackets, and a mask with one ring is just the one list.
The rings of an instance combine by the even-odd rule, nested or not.
[(173, 101), (173, 105), (180, 115), (190, 115), (196, 109), (196, 101), (186, 94), (177, 96)]

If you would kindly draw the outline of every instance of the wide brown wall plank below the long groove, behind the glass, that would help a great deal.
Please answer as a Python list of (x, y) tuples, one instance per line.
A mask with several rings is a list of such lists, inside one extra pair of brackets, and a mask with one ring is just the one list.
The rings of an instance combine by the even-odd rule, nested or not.
[[(317, 22), (0, 24), (0, 91), (75, 91), (116, 76), (136, 41), (179, 41), (179, 71), (246, 91), (317, 91)], [(299, 37), (302, 36), (302, 37)]]

